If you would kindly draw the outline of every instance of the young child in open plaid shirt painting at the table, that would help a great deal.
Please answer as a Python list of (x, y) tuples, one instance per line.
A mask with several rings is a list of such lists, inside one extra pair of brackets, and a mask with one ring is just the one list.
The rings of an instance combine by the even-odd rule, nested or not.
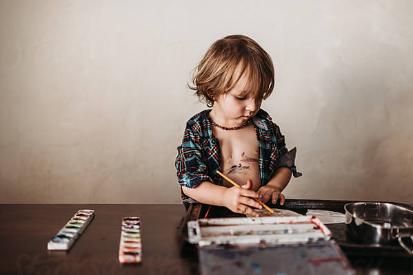
[(296, 148), (285, 148), (279, 126), (260, 109), (274, 88), (268, 53), (248, 36), (226, 36), (206, 52), (193, 83), (190, 88), (212, 109), (188, 120), (178, 147), (175, 166), (183, 203), (225, 206), (256, 217), (253, 208), (262, 206), (252, 198), (283, 205), (281, 191), (292, 174), (301, 173), (294, 165)]

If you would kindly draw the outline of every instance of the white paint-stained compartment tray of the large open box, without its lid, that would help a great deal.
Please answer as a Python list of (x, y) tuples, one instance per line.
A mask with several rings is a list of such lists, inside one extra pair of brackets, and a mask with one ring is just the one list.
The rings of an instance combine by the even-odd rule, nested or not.
[(188, 221), (188, 241), (204, 245), (281, 245), (329, 240), (316, 217), (243, 217)]

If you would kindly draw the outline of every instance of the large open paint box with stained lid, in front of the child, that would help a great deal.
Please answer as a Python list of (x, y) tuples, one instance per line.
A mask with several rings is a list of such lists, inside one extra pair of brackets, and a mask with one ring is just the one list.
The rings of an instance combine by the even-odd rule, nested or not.
[(330, 230), (316, 217), (188, 221), (201, 274), (354, 274)]

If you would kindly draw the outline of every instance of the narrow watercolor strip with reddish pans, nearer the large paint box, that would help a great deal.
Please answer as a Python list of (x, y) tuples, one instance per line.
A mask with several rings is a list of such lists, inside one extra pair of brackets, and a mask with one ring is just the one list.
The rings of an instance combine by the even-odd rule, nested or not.
[(139, 217), (124, 217), (119, 243), (119, 262), (141, 263), (141, 260), (141, 219)]

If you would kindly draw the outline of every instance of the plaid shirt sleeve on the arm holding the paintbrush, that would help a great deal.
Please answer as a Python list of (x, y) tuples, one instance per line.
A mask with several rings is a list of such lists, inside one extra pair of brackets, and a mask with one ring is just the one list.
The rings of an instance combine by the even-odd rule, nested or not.
[(202, 181), (211, 180), (201, 152), (199, 134), (187, 124), (182, 144), (178, 146), (178, 156), (175, 161), (180, 186), (194, 188)]

